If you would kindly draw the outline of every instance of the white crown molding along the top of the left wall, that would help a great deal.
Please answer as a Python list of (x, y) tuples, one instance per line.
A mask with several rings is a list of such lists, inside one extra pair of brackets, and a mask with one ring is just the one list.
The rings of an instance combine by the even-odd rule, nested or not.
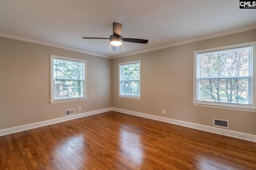
[(65, 49), (65, 50), (70, 50), (70, 51), (75, 51), (75, 52), (79, 52), (79, 53), (84, 53), (84, 54), (88, 54), (88, 55), (94, 55), (94, 56), (104, 57), (104, 58), (110, 59), (110, 57), (105, 56), (105, 55), (90, 53), (88, 51), (83, 51), (83, 50), (79, 50), (79, 49), (75, 49), (75, 48), (71, 48), (71, 47), (66, 47), (66, 46), (63, 46), (63, 45), (48, 43), (48, 42), (44, 42), (44, 41), (38, 41), (38, 40), (35, 40), (35, 39), (20, 37), (20, 36), (16, 36), (16, 35), (7, 34), (7, 33), (1, 33), (0, 32), (0, 37), (6, 37), (6, 38), (10, 38), (10, 39), (17, 39), (17, 40), (20, 40), (20, 41), (26, 41), (26, 42), (36, 43), (36, 44), (40, 44), (40, 45), (47, 45), (47, 46), (50, 46), (50, 47), (56, 47), (56, 48), (59, 48), (59, 49)]

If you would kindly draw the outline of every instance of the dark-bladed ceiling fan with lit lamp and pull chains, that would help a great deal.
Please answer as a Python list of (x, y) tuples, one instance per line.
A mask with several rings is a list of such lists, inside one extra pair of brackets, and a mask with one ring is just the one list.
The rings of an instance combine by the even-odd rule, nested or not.
[[(83, 39), (109, 39), (110, 44), (113, 45), (113, 50), (119, 49), (120, 45), (123, 45), (123, 52), (124, 52), (124, 44), (123, 41), (131, 42), (131, 43), (148, 43), (147, 39), (136, 39), (136, 38), (124, 38), (121, 35), (122, 32), (122, 24), (113, 22), (113, 35), (110, 35), (109, 38), (100, 38), (100, 37), (82, 37)], [(110, 44), (109, 44), (109, 53), (110, 52)]]

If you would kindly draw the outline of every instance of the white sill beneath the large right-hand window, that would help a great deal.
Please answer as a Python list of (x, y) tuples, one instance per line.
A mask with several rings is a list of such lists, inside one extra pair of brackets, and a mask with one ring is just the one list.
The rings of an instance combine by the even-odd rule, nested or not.
[(229, 109), (229, 110), (238, 110), (238, 111), (249, 111), (249, 112), (256, 112), (255, 108), (252, 108), (250, 106), (230, 106), (228, 104), (212, 104), (212, 103), (204, 103), (204, 102), (197, 102), (193, 103), (194, 106), (200, 106), (200, 107), (212, 107), (212, 108), (218, 108), (218, 109)]

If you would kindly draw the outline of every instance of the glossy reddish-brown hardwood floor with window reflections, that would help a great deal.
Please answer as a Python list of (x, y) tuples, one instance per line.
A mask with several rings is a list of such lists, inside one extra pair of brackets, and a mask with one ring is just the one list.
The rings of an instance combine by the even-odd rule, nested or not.
[(0, 137), (3, 170), (256, 170), (256, 143), (108, 111)]

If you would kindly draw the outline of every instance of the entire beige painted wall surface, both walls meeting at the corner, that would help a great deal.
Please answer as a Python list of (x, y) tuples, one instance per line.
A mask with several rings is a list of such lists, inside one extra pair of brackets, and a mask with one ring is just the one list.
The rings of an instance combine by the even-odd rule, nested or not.
[[(64, 117), (65, 109), (116, 107), (208, 126), (213, 117), (229, 119), (230, 130), (256, 135), (256, 113), (192, 104), (193, 52), (250, 41), (256, 30), (111, 60), (0, 37), (0, 130)], [(88, 100), (50, 104), (50, 55), (87, 61)], [(118, 98), (118, 63), (136, 60), (142, 62), (142, 100)]]

